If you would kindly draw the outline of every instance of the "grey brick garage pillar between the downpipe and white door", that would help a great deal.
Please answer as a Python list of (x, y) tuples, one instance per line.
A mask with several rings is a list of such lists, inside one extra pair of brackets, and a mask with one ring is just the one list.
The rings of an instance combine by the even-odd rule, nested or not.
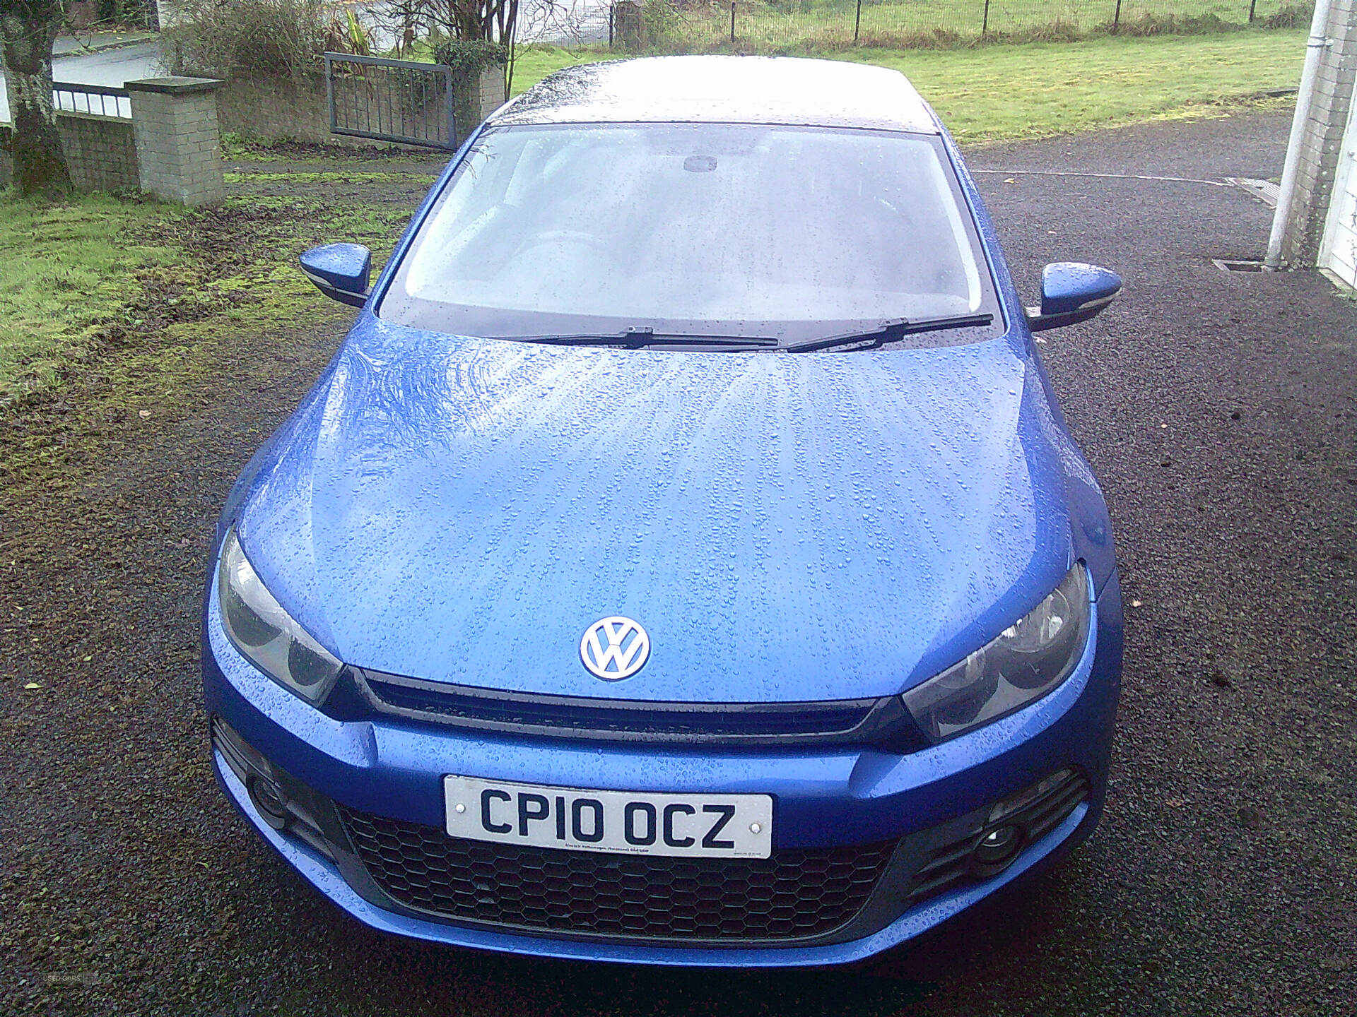
[(1333, 0), (1329, 45), (1319, 57), (1315, 94), (1305, 110), (1305, 134), (1296, 163), (1296, 197), (1281, 239), (1281, 258), (1292, 268), (1311, 268), (1319, 258), (1334, 170), (1357, 81), (1357, 0)]

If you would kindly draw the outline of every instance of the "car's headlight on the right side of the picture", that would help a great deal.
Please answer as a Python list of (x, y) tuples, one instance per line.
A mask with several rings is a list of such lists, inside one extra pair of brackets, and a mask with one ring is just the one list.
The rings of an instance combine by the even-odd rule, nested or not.
[(1075, 670), (1088, 640), (1088, 575), (1082, 563), (1027, 616), (958, 664), (904, 694), (934, 742), (1039, 700)]

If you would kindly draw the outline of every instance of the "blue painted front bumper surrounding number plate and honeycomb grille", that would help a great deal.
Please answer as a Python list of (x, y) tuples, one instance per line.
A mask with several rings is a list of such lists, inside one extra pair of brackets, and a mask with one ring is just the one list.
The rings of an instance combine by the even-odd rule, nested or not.
[[(995, 724), (908, 755), (837, 747), (818, 753), (714, 753), (654, 746), (581, 746), (468, 736), (383, 720), (337, 721), (259, 674), (205, 614), (209, 715), (281, 770), (315, 834), (275, 829), (251, 800), (239, 758), (214, 750), (218, 780), (274, 848), (331, 900), (368, 925), (417, 938), (537, 956), (687, 965), (806, 965), (859, 960), (904, 942), (999, 888), (1053, 862), (1092, 830), (1102, 810), (1121, 670), (1115, 574), (1095, 607), (1094, 635), (1075, 674), (1046, 698)], [(233, 762), (235, 766), (228, 765)], [(1087, 788), (1053, 829), (989, 879), (912, 888), (921, 858), (969, 835), (991, 807), (1069, 767)], [(775, 853), (892, 842), (866, 904), (828, 933), (799, 940), (660, 941), (571, 929), (503, 928), (432, 917), (372, 879), (341, 819), (370, 815), (441, 827), (445, 773), (529, 784), (710, 793), (772, 793)], [(338, 804), (338, 808), (337, 808)], [(300, 834), (304, 834), (299, 837)], [(950, 838), (950, 841), (949, 841)], [(612, 857), (612, 856), (601, 856)], [(369, 856), (370, 860), (370, 856)]]

